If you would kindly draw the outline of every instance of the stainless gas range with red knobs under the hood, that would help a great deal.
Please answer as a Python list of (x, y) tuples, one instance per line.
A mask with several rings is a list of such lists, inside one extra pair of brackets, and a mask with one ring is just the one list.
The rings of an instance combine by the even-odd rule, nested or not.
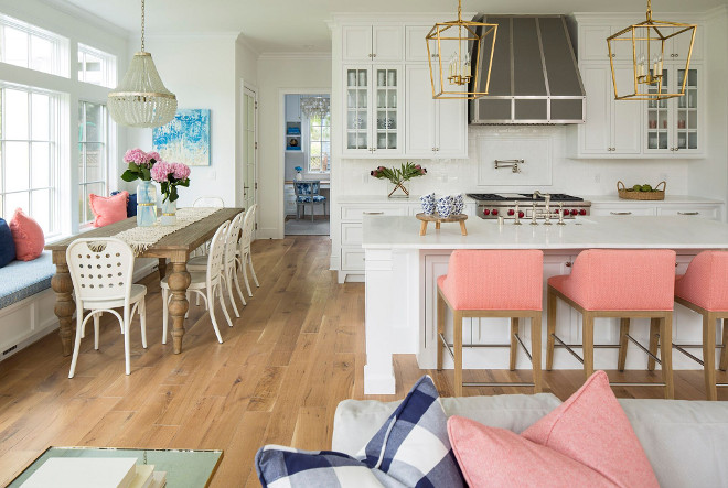
[[(564, 218), (576, 218), (590, 214), (591, 202), (564, 193), (469, 193), (469, 197), (478, 202), (478, 216), (485, 219), (504, 218), (533, 218), (534, 210), (537, 219), (558, 219), (559, 213)], [(517, 214), (516, 214), (517, 213)]]

